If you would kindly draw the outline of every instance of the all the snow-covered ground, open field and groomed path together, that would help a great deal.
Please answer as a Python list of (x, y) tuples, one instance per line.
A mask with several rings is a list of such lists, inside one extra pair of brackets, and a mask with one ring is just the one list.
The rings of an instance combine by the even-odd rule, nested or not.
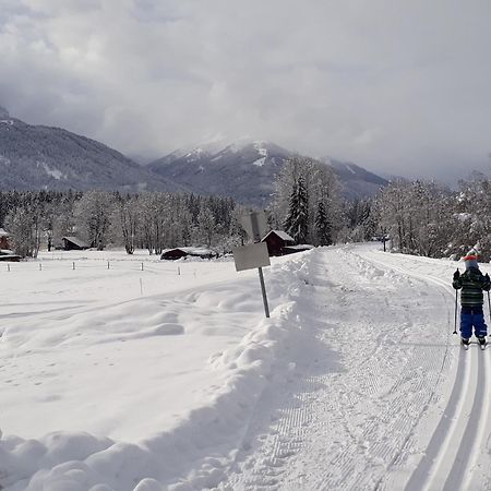
[(455, 263), (277, 259), (266, 320), (255, 271), (115, 255), (0, 272), (5, 490), (490, 489), (490, 351), (452, 335)]

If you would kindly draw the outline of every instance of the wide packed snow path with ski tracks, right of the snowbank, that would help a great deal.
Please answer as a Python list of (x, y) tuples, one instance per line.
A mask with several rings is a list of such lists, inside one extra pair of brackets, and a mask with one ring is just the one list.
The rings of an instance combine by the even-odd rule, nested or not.
[(314, 253), (298, 299), (312, 357), (260, 403), (220, 489), (490, 489), (490, 358), (451, 334), (453, 266)]

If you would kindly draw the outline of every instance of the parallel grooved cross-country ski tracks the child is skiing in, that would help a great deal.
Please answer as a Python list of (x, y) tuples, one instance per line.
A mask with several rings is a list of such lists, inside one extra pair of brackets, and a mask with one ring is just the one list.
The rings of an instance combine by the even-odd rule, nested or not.
[[(404, 266), (392, 267), (404, 271)], [(452, 291), (441, 277), (427, 276), (430, 282)], [(489, 351), (481, 351), (476, 343), (471, 343), (468, 350), (460, 348), (457, 356), (456, 378), (445, 410), (406, 491), (491, 489), (487, 476), (491, 466)]]

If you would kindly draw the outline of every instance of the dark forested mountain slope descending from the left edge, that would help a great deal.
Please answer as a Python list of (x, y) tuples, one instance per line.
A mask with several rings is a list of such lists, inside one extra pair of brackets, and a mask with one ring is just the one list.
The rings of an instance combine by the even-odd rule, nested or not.
[(0, 107), (0, 189), (184, 191), (108, 146)]

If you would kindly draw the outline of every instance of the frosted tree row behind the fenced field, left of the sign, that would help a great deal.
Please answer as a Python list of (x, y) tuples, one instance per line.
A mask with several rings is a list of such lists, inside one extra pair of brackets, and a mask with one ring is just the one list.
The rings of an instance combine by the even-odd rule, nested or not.
[(0, 224), (12, 248), (36, 258), (40, 248), (61, 247), (76, 236), (88, 247), (123, 247), (160, 254), (165, 248), (204, 246), (230, 250), (243, 243), (243, 213), (229, 197), (147, 192), (106, 191), (0, 192)]

